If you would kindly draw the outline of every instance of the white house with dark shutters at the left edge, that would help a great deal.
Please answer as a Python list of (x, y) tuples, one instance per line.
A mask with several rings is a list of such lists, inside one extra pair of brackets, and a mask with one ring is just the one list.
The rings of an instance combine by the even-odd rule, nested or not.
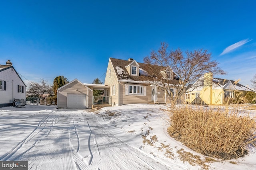
[(8, 60), (0, 64), (0, 107), (12, 106), (14, 99), (26, 100), (26, 85)]

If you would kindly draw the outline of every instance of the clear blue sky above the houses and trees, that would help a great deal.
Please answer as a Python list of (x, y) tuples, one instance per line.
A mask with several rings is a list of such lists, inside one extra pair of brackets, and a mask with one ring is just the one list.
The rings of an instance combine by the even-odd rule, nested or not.
[[(256, 74), (254, 0), (23, 0), (0, 2), (0, 64), (10, 59), (29, 81), (63, 75), (104, 82), (108, 59), (207, 49), (227, 72), (251, 84)], [(28, 81), (29, 80), (29, 81)]]

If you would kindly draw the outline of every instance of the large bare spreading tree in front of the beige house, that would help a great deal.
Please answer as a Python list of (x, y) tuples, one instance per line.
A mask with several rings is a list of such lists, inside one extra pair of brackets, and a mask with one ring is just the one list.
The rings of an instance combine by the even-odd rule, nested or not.
[[(186, 51), (184, 56), (179, 48), (168, 51), (166, 43), (161, 43), (158, 51), (152, 51), (150, 56), (145, 57), (144, 63), (147, 64), (147, 74), (151, 78), (151, 83), (166, 92), (172, 107), (188, 90), (187, 85), (195, 82), (204, 73), (226, 74), (218, 67), (218, 62), (212, 60), (212, 55), (207, 50)], [(154, 65), (160, 69), (156, 70)], [(171, 88), (176, 89), (176, 95)]]

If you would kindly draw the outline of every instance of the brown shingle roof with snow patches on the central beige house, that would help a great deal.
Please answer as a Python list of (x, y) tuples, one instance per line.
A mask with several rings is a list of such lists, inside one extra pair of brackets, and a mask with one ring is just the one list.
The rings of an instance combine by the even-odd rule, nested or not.
[[(135, 60), (128, 61), (128, 60), (110, 58), (110, 61), (114, 67), (114, 70), (115, 70), (118, 80), (123, 80), (123, 81), (127, 81), (127, 82), (129, 82), (129, 81), (130, 82), (132, 82), (132, 81), (141, 82), (141, 81), (145, 81), (145, 80), (150, 80), (150, 76), (147, 76), (148, 64), (136, 62), (139, 65), (138, 71), (139, 71), (140, 76), (133, 76), (127, 72), (126, 66), (133, 63)], [(154, 68), (154, 71), (156, 71), (156, 72), (160, 72), (163, 70), (161, 66), (157, 66), (157, 65), (151, 65), (150, 67)], [(170, 83), (178, 84), (178, 81), (170, 80)]]

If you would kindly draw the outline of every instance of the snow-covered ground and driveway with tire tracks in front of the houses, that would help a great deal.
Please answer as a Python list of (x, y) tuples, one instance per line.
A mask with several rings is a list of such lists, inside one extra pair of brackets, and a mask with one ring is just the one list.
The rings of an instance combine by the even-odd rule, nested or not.
[(209, 162), (170, 138), (165, 109), (153, 104), (95, 112), (1, 107), (0, 160), (27, 160), (31, 170), (256, 169), (254, 148), (236, 160)]

